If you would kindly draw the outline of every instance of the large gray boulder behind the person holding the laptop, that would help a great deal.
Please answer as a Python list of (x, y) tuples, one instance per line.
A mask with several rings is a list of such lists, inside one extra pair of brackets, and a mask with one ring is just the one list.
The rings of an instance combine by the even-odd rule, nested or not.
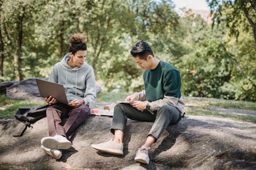
[[(48, 78), (37, 78), (41, 80), (48, 80)], [(101, 92), (100, 86), (96, 85), (96, 94)], [(39, 90), (36, 85), (35, 78), (26, 79), (16, 82), (6, 89), (6, 95), (13, 100), (33, 100), (41, 101)]]

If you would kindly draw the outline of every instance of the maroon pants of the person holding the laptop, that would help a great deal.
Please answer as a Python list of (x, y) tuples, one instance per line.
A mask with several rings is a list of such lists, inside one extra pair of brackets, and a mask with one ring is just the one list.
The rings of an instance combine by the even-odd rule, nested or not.
[[(63, 135), (69, 140), (75, 134), (76, 129), (90, 115), (90, 108), (87, 105), (80, 105), (77, 108), (65, 104), (54, 104), (46, 110), (48, 120), (49, 136)], [(63, 124), (62, 119), (67, 117)]]

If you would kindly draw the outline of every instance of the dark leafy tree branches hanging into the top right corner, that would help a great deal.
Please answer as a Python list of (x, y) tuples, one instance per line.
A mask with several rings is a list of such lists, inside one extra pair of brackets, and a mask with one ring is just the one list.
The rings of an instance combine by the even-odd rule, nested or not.
[[(231, 35), (236, 35), (236, 37), (239, 36), (239, 26), (241, 23), (246, 30), (248, 30), (250, 25), (253, 32), (254, 43), (256, 45), (255, 0), (206, 0), (206, 2), (211, 9), (211, 13), (215, 13), (213, 19), (216, 19), (218, 23), (220, 23), (220, 21), (225, 21), (226, 27), (230, 29)], [(245, 22), (244, 17), (241, 17), (242, 15), (246, 16), (249, 25), (248, 22)]]

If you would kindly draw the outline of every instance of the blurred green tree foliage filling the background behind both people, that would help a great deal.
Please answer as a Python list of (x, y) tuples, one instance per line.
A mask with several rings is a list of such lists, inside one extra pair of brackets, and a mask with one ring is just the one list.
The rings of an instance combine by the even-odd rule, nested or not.
[(142, 70), (130, 55), (143, 39), (181, 72), (183, 95), (255, 102), (256, 50), (245, 15), (255, 22), (253, 2), (207, 2), (216, 14), (212, 26), (189, 11), (178, 16), (170, 0), (1, 1), (0, 80), (17, 79), (17, 71), (22, 79), (48, 77), (80, 32), (104, 91), (143, 89)]

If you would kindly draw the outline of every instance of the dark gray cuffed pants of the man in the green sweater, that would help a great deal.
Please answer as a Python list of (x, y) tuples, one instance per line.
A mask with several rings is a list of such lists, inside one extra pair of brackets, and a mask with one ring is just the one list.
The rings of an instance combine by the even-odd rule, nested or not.
[(181, 112), (170, 105), (164, 105), (152, 114), (147, 110), (139, 111), (130, 104), (117, 104), (114, 108), (111, 132), (114, 134), (114, 129), (123, 131), (127, 118), (141, 122), (154, 122), (148, 135), (152, 135), (158, 140), (168, 125), (175, 125), (180, 122)]

